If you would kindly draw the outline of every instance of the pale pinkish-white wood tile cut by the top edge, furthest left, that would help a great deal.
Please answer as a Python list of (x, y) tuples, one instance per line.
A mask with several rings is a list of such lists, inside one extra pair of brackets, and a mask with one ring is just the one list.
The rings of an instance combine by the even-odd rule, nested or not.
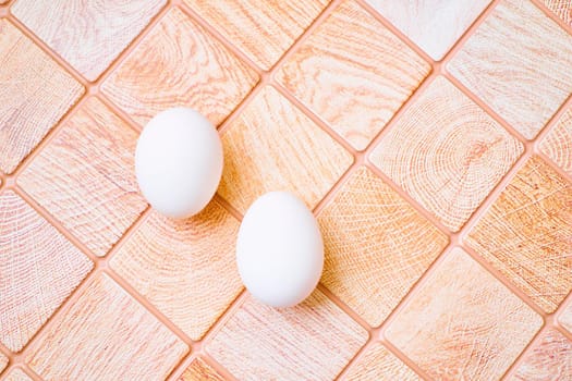
[(166, 0), (17, 0), (11, 12), (87, 79), (95, 81)]

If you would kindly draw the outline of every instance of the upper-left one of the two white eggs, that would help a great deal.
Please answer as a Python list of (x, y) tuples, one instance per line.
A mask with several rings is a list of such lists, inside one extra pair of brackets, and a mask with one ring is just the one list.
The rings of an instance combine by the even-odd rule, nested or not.
[(173, 108), (147, 123), (137, 142), (139, 188), (160, 213), (186, 218), (210, 201), (222, 175), (222, 145), (200, 113)]

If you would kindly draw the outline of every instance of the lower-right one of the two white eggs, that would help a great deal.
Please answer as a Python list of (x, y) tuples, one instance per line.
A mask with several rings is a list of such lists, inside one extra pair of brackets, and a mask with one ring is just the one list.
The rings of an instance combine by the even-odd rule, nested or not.
[(236, 263), (256, 299), (272, 307), (301, 303), (318, 284), (324, 268), (324, 243), (316, 219), (294, 195), (267, 193), (242, 220)]

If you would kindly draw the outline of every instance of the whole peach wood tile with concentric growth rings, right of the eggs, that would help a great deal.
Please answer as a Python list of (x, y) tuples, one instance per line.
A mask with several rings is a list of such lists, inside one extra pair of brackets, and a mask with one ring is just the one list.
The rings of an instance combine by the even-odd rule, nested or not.
[(519, 140), (439, 76), (384, 136), (370, 159), (457, 232), (522, 152)]

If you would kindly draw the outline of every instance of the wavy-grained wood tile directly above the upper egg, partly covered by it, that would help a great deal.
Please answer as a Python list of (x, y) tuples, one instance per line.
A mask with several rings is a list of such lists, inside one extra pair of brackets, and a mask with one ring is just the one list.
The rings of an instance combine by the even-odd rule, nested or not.
[(101, 88), (139, 124), (183, 106), (217, 125), (257, 81), (251, 69), (175, 8)]

